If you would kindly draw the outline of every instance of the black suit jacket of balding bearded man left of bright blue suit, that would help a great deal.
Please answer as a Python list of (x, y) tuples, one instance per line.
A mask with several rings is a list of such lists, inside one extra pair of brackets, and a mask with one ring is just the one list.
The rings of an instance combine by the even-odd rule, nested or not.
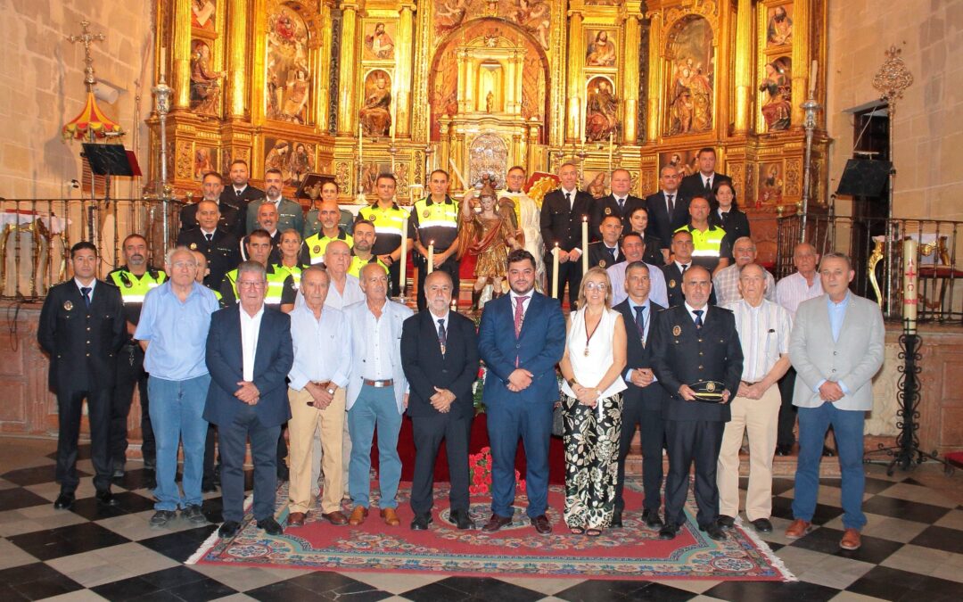
[(402, 325), (402, 367), (411, 387), (408, 415), (436, 416), (440, 412), (429, 401), (434, 387), (455, 394), (454, 418), (475, 415), (472, 384), (479, 375), (478, 336), (475, 323), (461, 314), (448, 313), (445, 354), (438, 343), (438, 323), (429, 310), (419, 311)]

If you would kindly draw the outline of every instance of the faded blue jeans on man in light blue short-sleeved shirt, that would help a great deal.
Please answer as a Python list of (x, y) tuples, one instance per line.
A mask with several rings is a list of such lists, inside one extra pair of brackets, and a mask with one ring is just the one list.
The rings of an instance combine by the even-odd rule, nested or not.
[[(188, 380), (150, 377), (150, 423), (157, 442), (157, 488), (154, 510), (177, 510), (200, 506), (200, 479), (204, 472), (204, 438), (207, 421), (204, 403), (211, 375)], [(184, 442), (184, 495), (174, 481), (177, 473), (177, 448)]]

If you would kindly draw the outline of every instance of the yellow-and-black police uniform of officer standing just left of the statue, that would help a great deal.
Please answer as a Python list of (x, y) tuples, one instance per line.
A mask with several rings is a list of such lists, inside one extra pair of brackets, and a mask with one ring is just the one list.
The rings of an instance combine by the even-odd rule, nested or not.
[[(431, 196), (426, 196), (415, 202), (411, 210), (411, 220), (408, 222), (408, 238), (418, 240), (425, 249), (434, 244), (434, 254), (450, 249), (458, 240), (458, 203), (448, 195), (445, 200), (435, 202)], [(451, 254), (443, 264), (435, 268), (452, 276), (452, 295), (458, 299), (458, 268), (457, 253)], [(425, 298), (425, 276), (428, 275), (428, 257), (419, 252), (412, 254), (415, 267), (418, 268), (418, 311), (428, 306)]]

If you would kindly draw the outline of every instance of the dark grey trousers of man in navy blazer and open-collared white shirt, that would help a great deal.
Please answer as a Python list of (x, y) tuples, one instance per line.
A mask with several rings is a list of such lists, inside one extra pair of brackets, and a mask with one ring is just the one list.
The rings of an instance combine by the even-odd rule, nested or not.
[(241, 522), (244, 518), (244, 458), (248, 437), (250, 456), (254, 460), (254, 519), (273, 517), (277, 435), (281, 427), (263, 426), (254, 413), (254, 406), (247, 405), (238, 410), (232, 423), (219, 426), (224, 520)]

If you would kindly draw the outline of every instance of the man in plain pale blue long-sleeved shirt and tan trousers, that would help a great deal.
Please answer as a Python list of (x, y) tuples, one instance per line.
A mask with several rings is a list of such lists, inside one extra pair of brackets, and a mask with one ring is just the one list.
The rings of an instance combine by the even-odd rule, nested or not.
[(321, 266), (301, 273), (300, 292), (304, 303), (291, 312), (291, 339), (294, 365), (288, 374), (288, 401), (291, 420), (291, 488), (288, 526), (301, 527), (312, 503), (311, 447), (314, 433), (321, 430), (324, 450), (325, 496), (321, 500), (322, 518), (332, 525), (347, 525), (341, 511), (344, 492), (341, 462), (345, 423), (345, 387), (351, 373), (351, 325), (345, 315), (325, 306), (330, 280)]

